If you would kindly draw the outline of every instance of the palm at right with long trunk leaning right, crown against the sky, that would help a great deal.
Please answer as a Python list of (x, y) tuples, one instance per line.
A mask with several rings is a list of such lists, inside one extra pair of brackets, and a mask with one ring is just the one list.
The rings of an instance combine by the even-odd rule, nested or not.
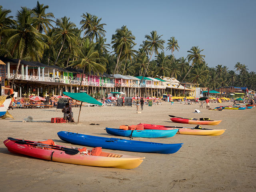
[[(186, 73), (186, 75), (184, 76), (184, 78), (182, 79), (182, 81), (180, 82), (180, 84), (184, 81), (184, 79), (186, 78), (186, 76), (189, 74), (190, 70), (192, 69), (192, 67), (194, 66), (195, 63), (200, 64), (204, 61), (205, 55), (201, 55), (200, 53), (203, 51), (200, 50), (200, 48), (198, 48), (198, 46), (193, 46), (190, 51), (188, 51), (188, 62), (192, 61), (192, 65), (190, 67), (190, 69), (188, 70), (188, 72)], [(180, 84), (178, 85), (178, 87), (180, 86)]]

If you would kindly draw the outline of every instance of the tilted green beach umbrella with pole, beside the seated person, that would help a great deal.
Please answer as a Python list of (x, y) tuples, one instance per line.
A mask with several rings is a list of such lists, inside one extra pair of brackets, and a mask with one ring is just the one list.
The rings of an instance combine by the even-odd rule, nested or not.
[(89, 96), (87, 93), (84, 93), (84, 92), (83, 93), (63, 92), (63, 94), (66, 96), (69, 96), (70, 98), (72, 98), (74, 100), (81, 101), (77, 123), (79, 123), (79, 117), (80, 117), (80, 112), (81, 112), (83, 102), (102, 106), (101, 102), (97, 101), (96, 99), (92, 98), (91, 96)]

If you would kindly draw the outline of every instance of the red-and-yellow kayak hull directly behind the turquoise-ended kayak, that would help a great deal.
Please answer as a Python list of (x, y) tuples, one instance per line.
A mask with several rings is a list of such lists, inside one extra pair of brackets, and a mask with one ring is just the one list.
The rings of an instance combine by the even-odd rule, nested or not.
[[(172, 130), (177, 129), (171, 126), (154, 125), (154, 124), (144, 124), (141, 123), (146, 130)], [(209, 135), (209, 136), (219, 136), (225, 132), (226, 129), (190, 129), (190, 128), (178, 128), (177, 134), (185, 135)]]

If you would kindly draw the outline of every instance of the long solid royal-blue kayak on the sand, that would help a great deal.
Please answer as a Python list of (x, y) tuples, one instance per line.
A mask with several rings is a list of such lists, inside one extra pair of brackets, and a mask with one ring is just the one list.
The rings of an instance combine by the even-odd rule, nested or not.
[(163, 144), (119, 138), (98, 137), (67, 131), (60, 131), (57, 134), (61, 140), (78, 145), (132, 152), (171, 154), (177, 152), (183, 144)]

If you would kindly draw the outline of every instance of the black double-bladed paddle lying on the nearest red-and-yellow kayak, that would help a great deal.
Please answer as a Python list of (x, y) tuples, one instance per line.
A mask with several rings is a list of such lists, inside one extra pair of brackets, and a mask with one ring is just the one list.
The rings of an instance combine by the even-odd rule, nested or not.
[(18, 143), (18, 144), (29, 144), (29, 145), (33, 145), (33, 146), (39, 146), (39, 147), (52, 148), (52, 149), (56, 149), (56, 150), (62, 150), (66, 154), (69, 154), (69, 155), (75, 155), (75, 154), (78, 154), (80, 152), (79, 150), (76, 150), (76, 149), (71, 149), (71, 148), (66, 148), (66, 147), (59, 147), (59, 146), (48, 145), (48, 144), (42, 144), (42, 143), (37, 143), (37, 142), (27, 141), (27, 140), (14, 139), (14, 138), (11, 138), (11, 137), (8, 137), (8, 139), (10, 139), (12, 141), (16, 141), (16, 143)]

